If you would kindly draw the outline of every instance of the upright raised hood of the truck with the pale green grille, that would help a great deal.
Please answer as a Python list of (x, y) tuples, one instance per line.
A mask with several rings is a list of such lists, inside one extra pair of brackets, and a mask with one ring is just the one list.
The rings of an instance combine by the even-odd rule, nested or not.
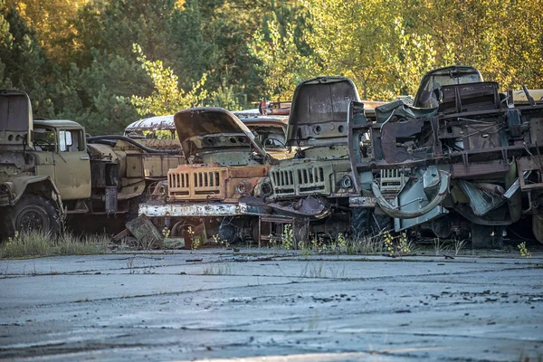
[(300, 82), (292, 96), (287, 146), (347, 142), (348, 105), (352, 100), (359, 101), (358, 91), (348, 78), (318, 77)]

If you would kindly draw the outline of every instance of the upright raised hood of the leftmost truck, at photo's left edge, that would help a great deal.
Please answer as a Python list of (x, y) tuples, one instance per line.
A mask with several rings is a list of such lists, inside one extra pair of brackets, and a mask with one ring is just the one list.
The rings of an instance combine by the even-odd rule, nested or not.
[(20, 90), (0, 90), (0, 146), (30, 144), (33, 130), (32, 106)]

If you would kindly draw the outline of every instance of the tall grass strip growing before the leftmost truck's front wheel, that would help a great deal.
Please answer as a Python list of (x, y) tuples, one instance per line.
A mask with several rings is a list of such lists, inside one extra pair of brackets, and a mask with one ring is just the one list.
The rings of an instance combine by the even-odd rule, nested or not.
[(1, 244), (0, 258), (103, 253), (108, 251), (109, 241), (107, 235), (61, 233), (54, 236), (39, 230), (24, 231)]

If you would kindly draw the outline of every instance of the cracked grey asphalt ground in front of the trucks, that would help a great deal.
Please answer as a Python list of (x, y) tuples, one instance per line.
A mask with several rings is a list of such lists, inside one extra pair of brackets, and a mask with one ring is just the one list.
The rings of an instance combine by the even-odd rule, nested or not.
[(2, 260), (0, 360), (541, 361), (542, 281), (540, 252)]

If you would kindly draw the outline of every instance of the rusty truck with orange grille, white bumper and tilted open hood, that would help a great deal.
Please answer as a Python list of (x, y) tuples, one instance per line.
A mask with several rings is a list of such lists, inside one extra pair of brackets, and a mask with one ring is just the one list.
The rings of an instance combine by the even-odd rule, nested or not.
[(221, 108), (181, 110), (174, 116), (177, 135), (190, 165), (170, 169), (148, 203), (146, 214), (170, 229), (171, 236), (218, 235), (232, 243), (252, 237), (258, 206), (239, 200), (271, 192), (262, 179), (271, 158), (252, 132), (233, 113)]

